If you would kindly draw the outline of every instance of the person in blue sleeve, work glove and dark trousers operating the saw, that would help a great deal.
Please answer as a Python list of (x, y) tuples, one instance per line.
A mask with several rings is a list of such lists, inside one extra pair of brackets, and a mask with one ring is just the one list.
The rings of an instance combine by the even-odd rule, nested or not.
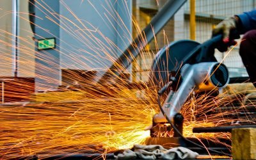
[[(223, 44), (234, 45), (234, 40), (230, 40), (230, 31), (236, 31), (239, 35), (244, 34), (240, 44), (239, 54), (243, 60), (244, 67), (246, 68), (250, 81), (256, 88), (256, 10), (244, 12), (240, 15), (229, 17), (212, 31), (212, 36), (222, 34)], [(219, 49), (219, 51), (223, 49)], [(227, 51), (226, 49), (224, 49)]]

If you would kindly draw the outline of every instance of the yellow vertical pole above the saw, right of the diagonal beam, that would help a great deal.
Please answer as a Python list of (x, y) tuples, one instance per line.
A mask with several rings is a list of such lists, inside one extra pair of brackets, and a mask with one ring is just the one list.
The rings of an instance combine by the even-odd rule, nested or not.
[(189, 28), (190, 28), (190, 39), (196, 40), (196, 0), (190, 0), (190, 16), (189, 16)]

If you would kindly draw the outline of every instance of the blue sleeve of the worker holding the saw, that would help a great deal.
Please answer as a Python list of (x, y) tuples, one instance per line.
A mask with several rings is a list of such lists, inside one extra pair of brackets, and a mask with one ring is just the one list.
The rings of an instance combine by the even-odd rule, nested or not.
[(256, 10), (237, 15), (241, 20), (241, 34), (256, 29)]

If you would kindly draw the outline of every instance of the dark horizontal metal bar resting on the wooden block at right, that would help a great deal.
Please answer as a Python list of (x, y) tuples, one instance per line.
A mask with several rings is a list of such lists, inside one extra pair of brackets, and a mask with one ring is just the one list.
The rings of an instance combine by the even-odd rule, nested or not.
[(231, 132), (232, 129), (256, 128), (256, 125), (229, 125), (220, 127), (195, 127), (193, 132)]

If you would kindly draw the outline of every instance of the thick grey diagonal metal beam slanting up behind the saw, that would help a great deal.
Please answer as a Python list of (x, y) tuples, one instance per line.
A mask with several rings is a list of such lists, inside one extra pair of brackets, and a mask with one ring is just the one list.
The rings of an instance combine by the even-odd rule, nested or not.
[[(154, 36), (159, 33), (159, 31), (161, 31), (168, 20), (172, 19), (172, 17), (184, 3), (186, 3), (186, 0), (167, 1), (163, 8), (159, 10), (157, 15), (155, 15), (151, 22), (147, 25), (147, 27), (141, 31), (141, 34), (135, 38), (134, 42), (127, 47), (123, 54), (116, 59), (113, 65), (102, 76), (99, 76), (99, 79), (96, 80), (97, 83), (106, 83), (106, 79), (120, 76), (120, 70), (124, 70), (131, 65), (132, 61), (135, 60), (135, 58), (145, 48), (147, 43), (149, 43)], [(141, 42), (142, 40), (143, 42)]]

